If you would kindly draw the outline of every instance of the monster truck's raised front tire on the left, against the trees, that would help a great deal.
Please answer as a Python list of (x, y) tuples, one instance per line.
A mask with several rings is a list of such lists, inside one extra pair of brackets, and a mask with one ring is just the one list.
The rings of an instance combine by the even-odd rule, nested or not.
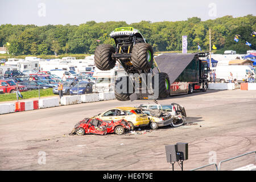
[(115, 48), (110, 44), (101, 44), (97, 46), (94, 53), (94, 63), (100, 70), (106, 71), (115, 67), (115, 60), (112, 54)]

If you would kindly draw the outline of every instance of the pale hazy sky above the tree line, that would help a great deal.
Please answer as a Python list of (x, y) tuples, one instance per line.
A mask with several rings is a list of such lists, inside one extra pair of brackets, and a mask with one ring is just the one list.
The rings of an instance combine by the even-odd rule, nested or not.
[(256, 0), (0, 0), (0, 24), (137, 23), (255, 16)]

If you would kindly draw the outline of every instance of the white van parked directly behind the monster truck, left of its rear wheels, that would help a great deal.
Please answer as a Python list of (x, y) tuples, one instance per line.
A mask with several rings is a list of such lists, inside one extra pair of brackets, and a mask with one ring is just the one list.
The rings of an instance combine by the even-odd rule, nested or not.
[(110, 69), (101, 71), (95, 68), (93, 77), (96, 78), (96, 84), (93, 85), (93, 92), (110, 92), (114, 91), (115, 80), (117, 77), (126, 76), (124, 69)]

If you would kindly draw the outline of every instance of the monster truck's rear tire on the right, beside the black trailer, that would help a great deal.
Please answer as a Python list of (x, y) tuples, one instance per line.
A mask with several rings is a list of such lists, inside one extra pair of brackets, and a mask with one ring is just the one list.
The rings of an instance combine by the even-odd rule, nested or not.
[(159, 76), (159, 81), (158, 81), (159, 96), (158, 96), (158, 98), (166, 98), (166, 97), (170, 96), (171, 84), (170, 84), (170, 79), (169, 79), (169, 76), (167, 75), (167, 73), (156, 73), (152, 77), (152, 88), (154, 89), (154, 92), (155, 92), (154, 80), (155, 80), (156, 75)]

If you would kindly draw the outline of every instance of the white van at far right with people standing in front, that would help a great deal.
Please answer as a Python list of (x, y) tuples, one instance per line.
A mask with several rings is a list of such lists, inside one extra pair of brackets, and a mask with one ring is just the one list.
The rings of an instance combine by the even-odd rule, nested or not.
[(236, 78), (237, 82), (244, 82), (243, 79), (250, 72), (255, 78), (255, 69), (251, 65), (224, 65), (217, 66), (215, 69), (217, 82), (229, 82), (230, 72), (233, 74), (233, 80)]

